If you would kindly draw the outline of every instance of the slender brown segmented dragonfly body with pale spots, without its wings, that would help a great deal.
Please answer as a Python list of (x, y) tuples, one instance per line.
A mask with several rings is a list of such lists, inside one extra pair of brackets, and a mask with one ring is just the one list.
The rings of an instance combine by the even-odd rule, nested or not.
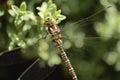
[(68, 59), (66, 52), (63, 48), (60, 29), (57, 27), (56, 24), (54, 24), (54, 21), (51, 18), (47, 18), (45, 20), (45, 25), (48, 28), (47, 30), (49, 34), (51, 34), (51, 38), (53, 42), (55, 43), (56, 47), (58, 48), (58, 51), (60, 52), (60, 55), (62, 59), (64, 60), (65, 65), (68, 68), (73, 80), (78, 80), (76, 73), (74, 71), (74, 68), (72, 67), (71, 62)]

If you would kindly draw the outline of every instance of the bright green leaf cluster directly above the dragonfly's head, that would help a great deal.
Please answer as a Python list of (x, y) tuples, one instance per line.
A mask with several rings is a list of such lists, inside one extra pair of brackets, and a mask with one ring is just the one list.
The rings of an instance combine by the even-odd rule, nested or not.
[(48, 3), (44, 2), (41, 7), (37, 7), (37, 9), (39, 10), (38, 15), (41, 17), (43, 22), (48, 17), (53, 19), (55, 24), (66, 19), (66, 17), (61, 14), (61, 10), (57, 10), (57, 6), (52, 3), (52, 0), (49, 0)]

